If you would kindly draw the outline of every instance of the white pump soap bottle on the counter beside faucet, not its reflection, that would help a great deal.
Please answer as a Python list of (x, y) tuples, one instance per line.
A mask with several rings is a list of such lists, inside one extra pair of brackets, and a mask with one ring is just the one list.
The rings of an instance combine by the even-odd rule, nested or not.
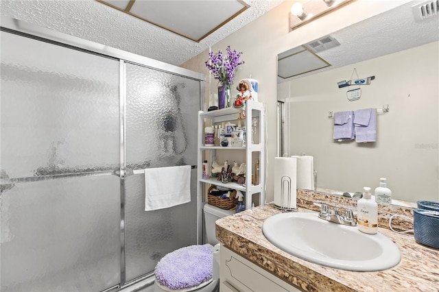
[(371, 199), (370, 188), (364, 187), (363, 198), (357, 204), (358, 230), (368, 234), (375, 234), (378, 230), (378, 205)]

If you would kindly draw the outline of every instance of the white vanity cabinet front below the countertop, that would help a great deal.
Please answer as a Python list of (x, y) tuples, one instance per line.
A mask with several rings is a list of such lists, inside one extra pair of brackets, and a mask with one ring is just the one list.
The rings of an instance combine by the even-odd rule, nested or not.
[(221, 245), (219, 291), (295, 292), (300, 290)]

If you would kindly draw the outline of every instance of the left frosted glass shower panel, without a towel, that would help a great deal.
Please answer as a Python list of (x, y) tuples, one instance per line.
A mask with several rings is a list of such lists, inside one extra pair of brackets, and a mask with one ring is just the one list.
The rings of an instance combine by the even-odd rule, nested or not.
[(1, 32), (0, 117), (0, 290), (119, 284), (119, 61)]

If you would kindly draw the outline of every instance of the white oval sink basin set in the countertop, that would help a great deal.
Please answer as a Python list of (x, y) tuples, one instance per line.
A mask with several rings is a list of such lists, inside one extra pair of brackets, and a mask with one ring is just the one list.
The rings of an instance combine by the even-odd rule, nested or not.
[(311, 263), (348, 271), (381, 271), (398, 265), (401, 253), (385, 235), (365, 234), (318, 218), (315, 212), (285, 212), (263, 223), (276, 247)]

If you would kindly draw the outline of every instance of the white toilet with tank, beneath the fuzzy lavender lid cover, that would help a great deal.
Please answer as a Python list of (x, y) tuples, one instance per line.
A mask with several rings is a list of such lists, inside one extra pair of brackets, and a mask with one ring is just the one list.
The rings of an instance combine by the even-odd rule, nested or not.
[[(222, 210), (221, 208), (217, 208), (215, 206), (211, 206), (209, 204), (205, 204), (203, 208), (204, 213), (204, 243), (207, 243), (209, 245), (192, 245), (190, 247), (183, 247), (182, 249), (176, 250), (174, 252), (171, 252), (166, 255), (166, 260), (172, 260), (172, 257), (179, 257), (181, 258), (180, 254), (181, 252), (185, 253), (185, 258), (194, 258), (193, 260), (199, 260), (195, 259), (197, 258), (200, 250), (209, 250), (212, 245), (213, 246), (213, 273), (212, 278), (210, 280), (206, 280), (205, 282), (202, 282), (201, 284), (198, 284), (193, 287), (189, 288), (182, 288), (182, 289), (171, 289), (165, 285), (159, 284), (156, 280), (154, 282), (154, 291), (161, 292), (161, 291), (171, 291), (171, 292), (188, 292), (188, 291), (196, 291), (196, 292), (212, 292), (212, 291), (219, 291), (219, 241), (217, 241), (215, 237), (215, 221), (217, 221), (220, 218), (226, 217), (228, 215), (235, 214), (235, 210)], [(191, 253), (194, 253), (196, 256), (192, 256)], [(206, 256), (210, 256), (209, 254), (205, 254)], [(195, 263), (194, 263), (195, 264)], [(157, 268), (159, 267), (160, 262), (157, 264)], [(182, 269), (185, 269), (185, 267), (182, 267)]]

